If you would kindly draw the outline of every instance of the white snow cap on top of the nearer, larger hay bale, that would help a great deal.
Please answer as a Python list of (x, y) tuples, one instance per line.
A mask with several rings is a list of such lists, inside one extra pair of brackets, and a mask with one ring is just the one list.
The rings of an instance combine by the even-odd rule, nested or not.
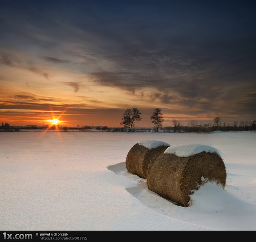
[(164, 151), (164, 154), (176, 154), (179, 157), (188, 157), (204, 151), (216, 153), (221, 157), (221, 154), (216, 148), (206, 144), (178, 144), (168, 147)]

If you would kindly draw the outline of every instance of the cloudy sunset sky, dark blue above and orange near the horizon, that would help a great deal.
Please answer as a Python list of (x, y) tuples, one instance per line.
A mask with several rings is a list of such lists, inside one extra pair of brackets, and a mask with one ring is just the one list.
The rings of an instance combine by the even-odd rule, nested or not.
[(0, 0), (0, 122), (256, 119), (252, 1)]

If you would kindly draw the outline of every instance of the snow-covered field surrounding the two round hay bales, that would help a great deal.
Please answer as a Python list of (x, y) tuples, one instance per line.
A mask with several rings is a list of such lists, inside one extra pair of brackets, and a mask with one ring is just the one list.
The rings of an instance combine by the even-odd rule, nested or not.
[[(256, 133), (1, 132), (1, 230), (256, 230)], [(177, 206), (126, 171), (142, 140), (221, 152), (227, 182)]]

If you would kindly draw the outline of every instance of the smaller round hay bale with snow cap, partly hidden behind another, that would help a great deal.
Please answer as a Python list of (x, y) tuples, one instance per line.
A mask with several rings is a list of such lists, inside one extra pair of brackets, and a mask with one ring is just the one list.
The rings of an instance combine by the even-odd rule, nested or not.
[(144, 140), (135, 144), (126, 157), (127, 171), (146, 179), (150, 162), (169, 146), (170, 144), (158, 140)]

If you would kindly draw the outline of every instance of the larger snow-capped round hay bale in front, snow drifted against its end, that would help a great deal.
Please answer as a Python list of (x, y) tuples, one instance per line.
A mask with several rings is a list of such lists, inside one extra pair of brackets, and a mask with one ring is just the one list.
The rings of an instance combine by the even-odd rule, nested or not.
[(148, 167), (148, 189), (187, 207), (190, 195), (206, 182), (225, 187), (226, 167), (216, 148), (189, 144), (170, 146)]

